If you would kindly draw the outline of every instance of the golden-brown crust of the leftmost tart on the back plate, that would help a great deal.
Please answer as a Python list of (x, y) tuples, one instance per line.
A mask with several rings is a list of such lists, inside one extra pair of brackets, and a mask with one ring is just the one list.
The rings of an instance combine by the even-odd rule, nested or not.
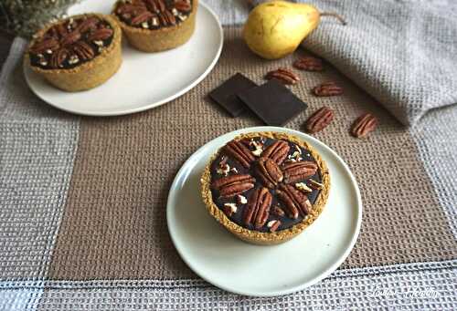
[(101, 14), (84, 14), (71, 16), (71, 18), (77, 19), (84, 16), (96, 16), (101, 20), (108, 22), (110, 26), (112, 26), (112, 42), (108, 47), (101, 51), (100, 55), (94, 57), (88, 62), (80, 64), (80, 66), (73, 68), (43, 69), (37, 66), (32, 66), (29, 55), (30, 47), (32, 47), (36, 40), (41, 38), (50, 27), (63, 23), (68, 19), (67, 18), (49, 24), (37, 32), (35, 36), (37, 39), (32, 40), (27, 48), (27, 52), (24, 56), (24, 65), (31, 67), (34, 72), (48, 80), (48, 82), (53, 86), (70, 92), (95, 88), (111, 78), (122, 64), (121, 27), (117, 25), (112, 16)]

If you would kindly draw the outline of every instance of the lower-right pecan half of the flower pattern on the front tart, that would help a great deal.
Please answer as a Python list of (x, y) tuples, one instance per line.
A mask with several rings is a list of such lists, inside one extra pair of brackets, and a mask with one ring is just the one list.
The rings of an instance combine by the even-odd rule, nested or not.
[(306, 216), (310, 213), (312, 205), (308, 200), (308, 197), (289, 184), (281, 184), (279, 189), (276, 191), (278, 198), (282, 201), (285, 208), (287, 209), (287, 214), (290, 218), (296, 219), (299, 214)]

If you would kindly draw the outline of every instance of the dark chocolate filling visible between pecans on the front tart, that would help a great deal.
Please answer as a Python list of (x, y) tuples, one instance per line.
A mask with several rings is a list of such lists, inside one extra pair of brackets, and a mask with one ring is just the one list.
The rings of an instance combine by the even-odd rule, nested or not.
[[(276, 140), (273, 140), (273, 139), (270, 139), (270, 138), (262, 138), (262, 139), (265, 141), (264, 146), (263, 146), (263, 150), (265, 150), (274, 141), (276, 141)], [(260, 137), (259, 138), (254, 138), (254, 140), (260, 140)], [(296, 151), (296, 149), (295, 149), (295, 146), (296, 146), (296, 147), (300, 148), (300, 150), (302, 150), (302, 155), (301, 155), (301, 158), (303, 159), (302, 161), (314, 161), (315, 162), (315, 160), (314, 160), (313, 156), (311, 155), (311, 153), (309, 152), (309, 150), (305, 150), (302, 147), (292, 143), (291, 141), (288, 141), (288, 143), (289, 143), (289, 146), (291, 147), (291, 149), (289, 150), (288, 156), (289, 155), (292, 156), (293, 152)], [(227, 157), (225, 154), (221, 153), (221, 154), (218, 155), (217, 159), (211, 163), (211, 168), (210, 168), (211, 177), (212, 177), (211, 178), (211, 182), (224, 176), (224, 175), (221, 175), (221, 174), (218, 173), (219, 162), (222, 161), (222, 157), (228, 158), (227, 163), (230, 166), (230, 168), (236, 168), (236, 170), (238, 171), (239, 174), (250, 174), (251, 176), (256, 177), (256, 173), (254, 171), (254, 165), (251, 165), (250, 169), (246, 169), (241, 164), (239, 164), (238, 161), (233, 160), (233, 159)], [(309, 180), (322, 182), (322, 176), (320, 174), (320, 171), (318, 170), (314, 174), (314, 176), (311, 176), (310, 178), (307, 178), (307, 179), (305, 179), (303, 181), (296, 181), (296, 182), (297, 183), (298, 182), (305, 182), (305, 181), (309, 181)], [(253, 189), (250, 189), (247, 192), (243, 192), (241, 195), (243, 195), (244, 197), (246, 197), (246, 199), (249, 200), (250, 195), (252, 194), (252, 192), (254, 192), (254, 190), (256, 188), (262, 187), (262, 186), (263, 186), (263, 184), (260, 182), (260, 179), (256, 178), (255, 187)], [(271, 211), (275, 206), (280, 206), (280, 207), (282, 207), (282, 210), (284, 210), (284, 208), (283, 208), (284, 205), (276, 197), (274, 189), (270, 189), (269, 191), (271, 192), (271, 195), (272, 195)], [(306, 193), (306, 196), (308, 197), (308, 200), (312, 204), (314, 204), (314, 202), (317, 200), (319, 192), (320, 192), (320, 190), (313, 189), (313, 192)], [(267, 224), (272, 220), (281, 221), (281, 225), (278, 227), (278, 229), (276, 231), (280, 231), (280, 230), (284, 230), (284, 229), (290, 228), (294, 224), (301, 223), (303, 221), (303, 216), (302, 215), (299, 215), (299, 217), (296, 218), (296, 219), (292, 219), (292, 218), (289, 218), (287, 216), (287, 213), (285, 213), (283, 216), (277, 216), (277, 215), (273, 215), (272, 213), (270, 213), (268, 221), (265, 223), (265, 225), (263, 225), (260, 229), (256, 229), (253, 225), (246, 225), (245, 223), (243, 223), (243, 212), (244, 212), (244, 208), (246, 207), (247, 204), (239, 204), (239, 203), (237, 203), (236, 202), (236, 197), (219, 198), (218, 191), (213, 190), (213, 189), (211, 190), (211, 194), (212, 194), (212, 197), (213, 197), (213, 202), (215, 202), (216, 205), (218, 205), (218, 208), (221, 209), (222, 211), (224, 211), (224, 209), (223, 209), (224, 203), (236, 203), (237, 212), (233, 213), (232, 215), (229, 216), (230, 220), (232, 222), (234, 222), (234, 223), (239, 224), (243, 228), (247, 228), (247, 229), (250, 229), (250, 230), (253, 230), (253, 231), (259, 231), (259, 232), (262, 232), (262, 233), (269, 232), (270, 229), (267, 226)], [(284, 210), (284, 212), (285, 212), (285, 210)]]

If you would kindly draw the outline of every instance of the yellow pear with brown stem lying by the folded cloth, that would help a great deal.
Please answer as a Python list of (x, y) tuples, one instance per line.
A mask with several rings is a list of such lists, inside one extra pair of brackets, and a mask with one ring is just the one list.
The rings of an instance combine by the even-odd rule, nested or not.
[[(271, 1), (257, 5), (244, 25), (248, 47), (267, 59), (291, 54), (318, 25), (321, 16), (314, 5)], [(338, 17), (338, 16), (337, 16)]]

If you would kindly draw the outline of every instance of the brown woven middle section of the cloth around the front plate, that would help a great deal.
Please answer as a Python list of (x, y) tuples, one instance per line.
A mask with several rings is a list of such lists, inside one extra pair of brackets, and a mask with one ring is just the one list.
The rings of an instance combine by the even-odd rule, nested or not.
[[(217, 67), (185, 96), (131, 116), (81, 119), (50, 279), (195, 277), (167, 233), (165, 205), (171, 182), (183, 162), (208, 140), (261, 125), (250, 113), (230, 118), (206, 94), (236, 72), (261, 83), (267, 71), (290, 67), (304, 53), (265, 61), (250, 53), (239, 28), (226, 28), (225, 36)], [(362, 232), (343, 267), (453, 258), (455, 239), (409, 132), (332, 67), (300, 76), (302, 82), (292, 91), (309, 108), (285, 126), (303, 130), (315, 109), (335, 109), (335, 122), (315, 137), (348, 163), (363, 196)], [(345, 95), (314, 98), (310, 89), (328, 80), (340, 83)], [(380, 125), (367, 140), (357, 140), (348, 130), (364, 111), (374, 113)]]

